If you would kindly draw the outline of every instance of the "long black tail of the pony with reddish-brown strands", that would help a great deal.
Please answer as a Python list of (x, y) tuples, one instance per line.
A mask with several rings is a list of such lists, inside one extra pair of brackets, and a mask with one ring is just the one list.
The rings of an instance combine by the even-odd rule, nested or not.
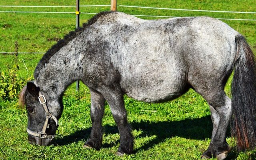
[(256, 147), (256, 64), (242, 35), (237, 35), (236, 64), (232, 81), (231, 133), (238, 151)]

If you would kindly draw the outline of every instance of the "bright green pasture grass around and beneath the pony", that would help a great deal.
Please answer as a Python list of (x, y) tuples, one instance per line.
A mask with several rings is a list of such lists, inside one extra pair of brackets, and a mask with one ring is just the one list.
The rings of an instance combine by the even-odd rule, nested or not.
[[(84, 0), (80, 5), (108, 4), (105, 0)], [(0, 5), (75, 5), (75, 0), (30, 0), (0, 1)], [(228, 10), (256, 12), (254, 0), (118, 0), (118, 5), (151, 6), (163, 8), (184, 8), (201, 10)], [(110, 7), (81, 8), (81, 12), (100, 12)], [(4, 8), (0, 11), (52, 11), (74, 12), (75, 8)], [(157, 16), (211, 16), (216, 18), (256, 19), (255, 14), (231, 14), (212, 12), (188, 12), (118, 7), (128, 14)], [(81, 23), (93, 15), (81, 14)], [(144, 19), (154, 19), (142, 17)], [(256, 53), (256, 22), (224, 20), (235, 30), (246, 36)], [(0, 13), (0, 52), (14, 52), (15, 40), (19, 52), (46, 52), (59, 38), (74, 30), (74, 14), (31, 14)], [(20, 70), (24, 78), (32, 78), (34, 68), (42, 54), (19, 54)], [(13, 64), (13, 55), (0, 55), (0, 70), (6, 71)], [(26, 64), (28, 72), (22, 62)], [(230, 80), (225, 91), (230, 95)], [(86, 86), (79, 93), (72, 84), (65, 92), (64, 112), (60, 119), (60, 134), (51, 146), (28, 144), (26, 133), (26, 111), (17, 105), (17, 100), (0, 101), (0, 159), (136, 159), (136, 160), (191, 160), (200, 159), (210, 142), (212, 123), (207, 102), (193, 90), (189, 90), (176, 100), (147, 104), (125, 97), (128, 120), (132, 124), (135, 137), (135, 153), (122, 158), (115, 156), (119, 146), (118, 129), (106, 105), (103, 124), (105, 134), (102, 148), (89, 150), (82, 148), (91, 129), (90, 94)], [(233, 147), (227, 159), (248, 160), (256, 158), (256, 150), (237, 153), (234, 140), (228, 134), (228, 143)]]

